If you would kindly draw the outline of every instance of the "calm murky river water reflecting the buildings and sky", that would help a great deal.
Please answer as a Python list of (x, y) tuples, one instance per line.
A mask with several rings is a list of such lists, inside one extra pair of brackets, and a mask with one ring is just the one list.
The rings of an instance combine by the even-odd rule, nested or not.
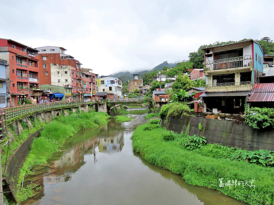
[[(129, 109), (130, 110), (130, 109)], [(48, 164), (25, 180), (41, 185), (25, 201), (39, 205), (243, 205), (214, 190), (191, 186), (181, 176), (149, 164), (132, 151), (134, 129), (148, 110), (131, 110), (130, 122), (88, 129), (68, 139)]]

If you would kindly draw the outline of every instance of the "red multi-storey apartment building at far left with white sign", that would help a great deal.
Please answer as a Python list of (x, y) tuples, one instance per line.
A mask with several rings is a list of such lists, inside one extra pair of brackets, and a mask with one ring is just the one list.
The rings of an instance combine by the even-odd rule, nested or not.
[[(12, 105), (20, 105), (29, 96), (29, 89), (39, 88), (38, 50), (11, 39), (0, 39), (0, 58), (7, 61), (7, 99)], [(34, 92), (32, 92), (34, 93)]]

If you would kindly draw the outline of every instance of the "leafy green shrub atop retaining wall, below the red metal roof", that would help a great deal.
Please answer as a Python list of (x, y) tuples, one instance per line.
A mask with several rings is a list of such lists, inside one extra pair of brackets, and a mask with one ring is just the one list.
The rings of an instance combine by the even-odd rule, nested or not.
[(254, 129), (274, 128), (274, 108), (251, 108), (245, 114), (245, 122)]

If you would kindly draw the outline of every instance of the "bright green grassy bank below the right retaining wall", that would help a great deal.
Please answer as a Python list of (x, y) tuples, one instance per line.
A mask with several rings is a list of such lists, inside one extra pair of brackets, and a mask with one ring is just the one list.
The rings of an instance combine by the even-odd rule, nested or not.
[[(144, 131), (147, 124), (137, 127), (132, 135), (133, 150), (156, 166), (182, 175), (187, 183), (218, 190), (224, 195), (252, 205), (270, 205), (274, 199), (274, 169), (245, 161), (212, 158), (182, 148), (182, 135), (172, 141), (164, 141), (163, 128)], [(219, 179), (251, 181), (255, 187), (237, 185), (219, 187)], [(250, 183), (249, 183), (250, 185)]]

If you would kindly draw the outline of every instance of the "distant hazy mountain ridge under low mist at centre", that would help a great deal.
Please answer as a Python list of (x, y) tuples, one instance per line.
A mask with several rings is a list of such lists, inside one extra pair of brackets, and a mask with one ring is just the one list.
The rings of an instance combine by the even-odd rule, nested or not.
[[(178, 61), (178, 62), (180, 62), (180, 61)], [(161, 71), (162, 68), (164, 68), (165, 66), (167, 66), (168, 68), (175, 67), (178, 62), (168, 63), (167, 61), (164, 61), (161, 64), (159, 64), (159, 65), (155, 66), (154, 68), (152, 68), (151, 70), (143, 70), (143, 71), (136, 71), (136, 72), (124, 71), (124, 72), (112, 73), (109, 76), (110, 77), (120, 78), (123, 82), (126, 82), (126, 81), (128, 81), (132, 78), (133, 74), (149, 73), (149, 72), (151, 72), (155, 69)]]

